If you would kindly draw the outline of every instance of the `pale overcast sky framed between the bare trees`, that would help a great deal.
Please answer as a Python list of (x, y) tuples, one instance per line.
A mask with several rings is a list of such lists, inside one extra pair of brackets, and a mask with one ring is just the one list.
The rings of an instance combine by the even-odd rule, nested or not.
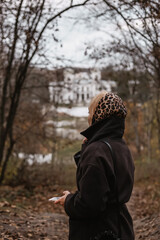
[[(114, 40), (113, 35), (120, 37), (120, 31), (116, 27), (114, 17), (109, 19), (108, 12), (101, 18), (88, 19), (92, 13), (99, 14), (105, 11), (105, 7), (106, 5), (103, 7), (101, 2), (98, 6), (95, 6), (95, 12), (90, 11), (91, 8), (88, 7), (88, 9), (86, 6), (70, 9), (58, 19), (58, 31), (55, 31), (55, 28), (53, 28), (53, 31), (51, 29), (45, 32), (47, 36), (45, 52), (50, 61), (50, 64), (48, 64), (49, 68), (63, 66), (104, 67), (109, 64), (115, 65), (120, 63), (122, 59), (120, 59), (118, 54), (106, 56), (98, 61), (95, 59), (91, 60), (88, 55), (84, 54), (88, 45), (92, 47), (88, 50), (90, 53), (94, 48), (103, 44), (105, 44), (105, 47), (110, 46), (110, 42)], [(128, 31), (120, 17), (118, 22), (124, 31)], [(53, 40), (53, 34), (58, 39), (58, 42)]]

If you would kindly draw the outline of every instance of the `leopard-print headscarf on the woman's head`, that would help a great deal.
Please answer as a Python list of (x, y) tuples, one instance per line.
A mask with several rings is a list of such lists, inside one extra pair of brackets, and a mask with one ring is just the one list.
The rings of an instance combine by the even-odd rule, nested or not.
[(92, 117), (92, 124), (111, 116), (125, 118), (127, 109), (122, 99), (114, 93), (106, 93), (98, 102), (96, 110)]

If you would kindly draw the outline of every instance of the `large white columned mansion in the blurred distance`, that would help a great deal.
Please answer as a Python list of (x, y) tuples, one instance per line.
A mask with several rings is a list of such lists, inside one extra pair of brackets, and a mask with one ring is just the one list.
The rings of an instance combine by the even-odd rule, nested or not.
[(49, 84), (50, 102), (57, 104), (86, 104), (101, 90), (112, 91), (114, 81), (101, 80), (97, 69), (63, 70), (63, 80)]

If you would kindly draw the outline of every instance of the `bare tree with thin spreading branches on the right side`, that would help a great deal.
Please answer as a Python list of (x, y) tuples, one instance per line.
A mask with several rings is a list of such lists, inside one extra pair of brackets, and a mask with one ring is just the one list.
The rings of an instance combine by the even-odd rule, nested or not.
[[(105, 31), (106, 42), (91, 51), (90, 56), (97, 61), (111, 57), (115, 69), (133, 70), (133, 91), (130, 99), (134, 105), (152, 99), (156, 116), (158, 147), (160, 148), (160, 3), (157, 0), (103, 0), (99, 8), (92, 11), (100, 31), (111, 24), (116, 31)], [(96, 24), (95, 22), (95, 24)], [(111, 37), (111, 38), (108, 38)], [(137, 85), (137, 81), (140, 83)], [(143, 84), (143, 88), (137, 88)], [(145, 93), (147, 89), (147, 95)], [(133, 90), (134, 90), (133, 88)], [(141, 90), (141, 91), (140, 91)], [(150, 104), (148, 104), (150, 108)], [(145, 105), (146, 108), (146, 105)], [(149, 109), (148, 109), (149, 110)], [(134, 116), (137, 119), (136, 107)], [(153, 119), (149, 121), (153, 122)], [(135, 122), (135, 132), (138, 125)], [(150, 136), (151, 134), (148, 134)], [(139, 137), (136, 137), (137, 146)]]

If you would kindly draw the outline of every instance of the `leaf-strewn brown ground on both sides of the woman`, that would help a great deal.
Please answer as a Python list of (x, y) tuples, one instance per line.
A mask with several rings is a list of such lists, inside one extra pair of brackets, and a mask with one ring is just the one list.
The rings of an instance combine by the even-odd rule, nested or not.
[[(23, 187), (1, 187), (0, 240), (67, 240), (68, 218), (61, 206), (48, 202), (60, 191), (38, 187), (30, 192)], [(159, 240), (157, 198), (151, 198), (146, 188), (136, 186), (128, 207), (134, 220), (136, 240)]]

